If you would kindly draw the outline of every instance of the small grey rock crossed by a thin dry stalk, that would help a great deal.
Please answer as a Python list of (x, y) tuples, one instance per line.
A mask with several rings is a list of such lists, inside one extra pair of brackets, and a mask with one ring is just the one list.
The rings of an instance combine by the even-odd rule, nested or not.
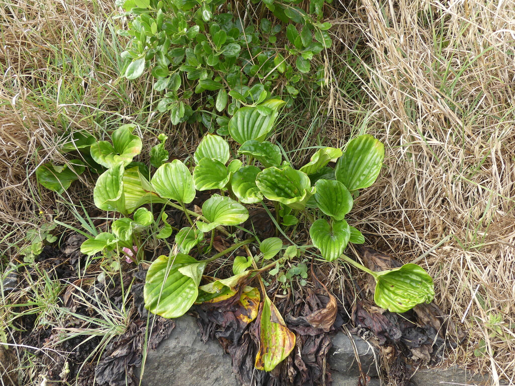
[[(377, 350), (361, 337), (352, 335), (352, 339), (356, 345), (363, 372), (368, 374), (370, 377), (377, 376)], [(329, 352), (328, 358), (331, 369), (344, 375), (357, 377), (359, 375), (359, 368), (350, 338), (344, 332), (338, 332), (338, 334), (333, 337), (332, 343), (333, 347)]]

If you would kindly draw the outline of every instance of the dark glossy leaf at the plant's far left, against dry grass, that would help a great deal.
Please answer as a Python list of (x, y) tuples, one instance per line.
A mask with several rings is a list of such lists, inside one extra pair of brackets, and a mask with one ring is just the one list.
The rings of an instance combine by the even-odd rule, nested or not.
[(45, 188), (62, 194), (79, 178), (79, 174), (82, 174), (84, 169), (84, 163), (81, 160), (70, 160), (70, 163), (64, 166), (43, 164), (36, 170), (36, 177)]

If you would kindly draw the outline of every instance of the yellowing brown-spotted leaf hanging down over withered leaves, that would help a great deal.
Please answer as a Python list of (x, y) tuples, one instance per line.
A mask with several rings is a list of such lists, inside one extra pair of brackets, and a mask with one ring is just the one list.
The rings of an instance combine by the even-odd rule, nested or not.
[(264, 295), (260, 310), (260, 347), (254, 366), (258, 370), (272, 371), (293, 350), (295, 334), (286, 327), (279, 310), (266, 293)]

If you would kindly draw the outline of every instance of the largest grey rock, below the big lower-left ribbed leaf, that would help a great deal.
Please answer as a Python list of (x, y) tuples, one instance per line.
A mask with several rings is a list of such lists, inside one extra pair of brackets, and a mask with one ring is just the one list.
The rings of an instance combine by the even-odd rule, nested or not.
[[(136, 372), (140, 376), (141, 369)], [(156, 350), (148, 349), (142, 386), (240, 386), (231, 357), (218, 342), (200, 339), (195, 318), (184, 315)]]

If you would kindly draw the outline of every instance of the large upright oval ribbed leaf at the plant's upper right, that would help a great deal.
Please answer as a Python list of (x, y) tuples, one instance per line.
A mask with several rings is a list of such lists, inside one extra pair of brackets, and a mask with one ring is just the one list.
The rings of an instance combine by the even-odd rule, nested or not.
[(349, 190), (367, 188), (381, 171), (384, 145), (371, 135), (352, 139), (336, 164), (336, 179)]

